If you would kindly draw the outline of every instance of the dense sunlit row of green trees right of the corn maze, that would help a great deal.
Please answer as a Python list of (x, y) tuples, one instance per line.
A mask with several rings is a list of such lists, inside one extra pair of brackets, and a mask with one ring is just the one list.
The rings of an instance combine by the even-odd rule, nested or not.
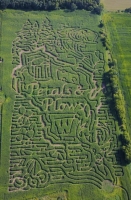
[[(115, 62), (112, 62), (112, 65)], [(125, 102), (122, 92), (119, 88), (119, 79), (118, 73), (114, 66), (109, 70), (109, 79), (112, 88), (113, 100), (115, 105), (115, 110), (117, 112), (117, 116), (119, 119), (119, 123), (121, 125), (122, 135), (122, 151), (125, 155), (125, 161), (127, 163), (131, 162), (131, 139), (129, 133), (127, 131), (126, 126), (126, 113), (125, 113)]]

